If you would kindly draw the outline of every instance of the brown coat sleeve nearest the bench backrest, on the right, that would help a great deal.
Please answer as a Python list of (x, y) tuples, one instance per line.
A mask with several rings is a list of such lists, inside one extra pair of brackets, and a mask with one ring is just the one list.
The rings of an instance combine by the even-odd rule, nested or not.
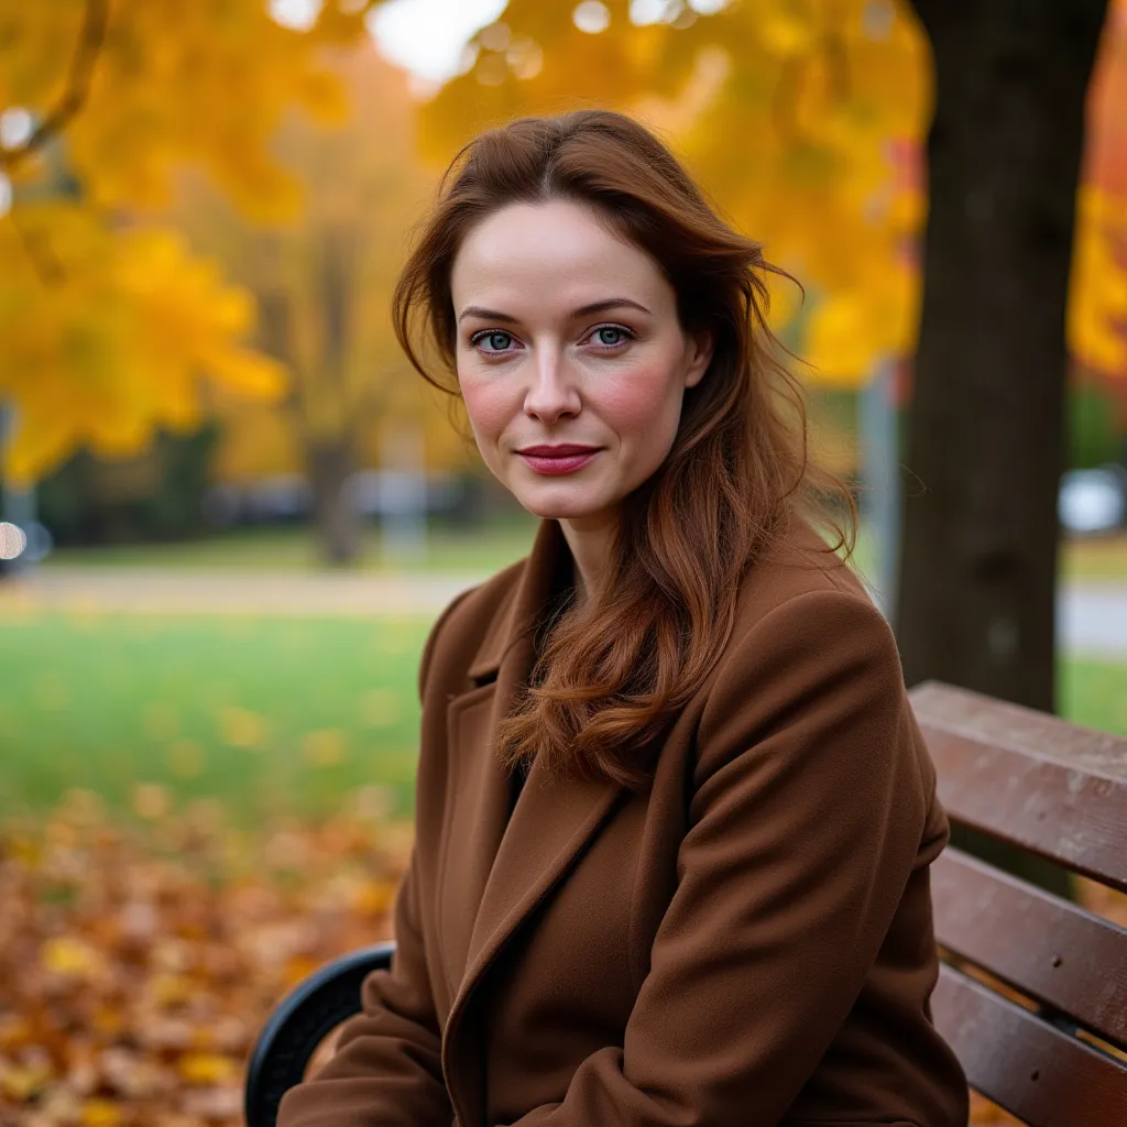
[(733, 648), (698, 729), (677, 885), (622, 1045), (513, 1127), (775, 1127), (857, 1000), (926, 796), (891, 631), (798, 595)]

